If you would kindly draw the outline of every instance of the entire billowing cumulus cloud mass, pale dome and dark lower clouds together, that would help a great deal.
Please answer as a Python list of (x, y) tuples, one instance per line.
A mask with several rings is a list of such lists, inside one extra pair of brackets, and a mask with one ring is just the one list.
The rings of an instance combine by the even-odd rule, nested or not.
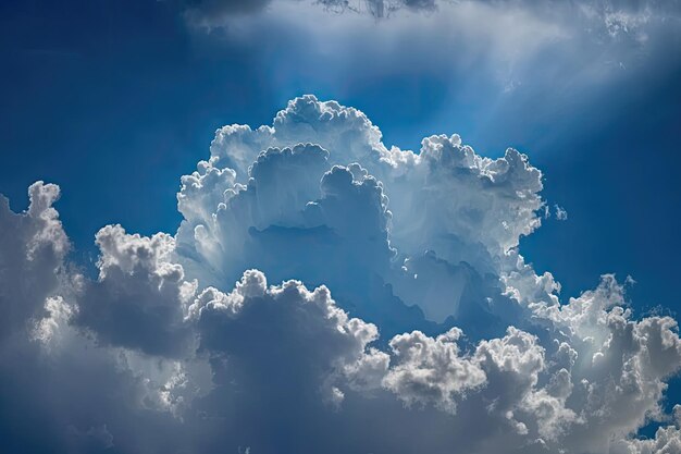
[[(461, 138), (388, 148), (312, 96), (220, 128), (174, 234), (97, 233), (36, 183), (0, 200), (0, 443), (74, 453), (678, 453), (669, 317), (578, 297), (519, 250), (542, 173)], [(87, 275), (92, 274), (94, 278)], [(637, 437), (649, 422), (654, 439)]]

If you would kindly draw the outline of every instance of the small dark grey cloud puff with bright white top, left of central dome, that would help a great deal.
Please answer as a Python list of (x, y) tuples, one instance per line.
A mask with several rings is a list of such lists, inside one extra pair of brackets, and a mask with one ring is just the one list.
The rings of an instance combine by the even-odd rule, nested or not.
[(174, 238), (128, 235), (121, 225), (108, 225), (96, 243), (99, 279), (85, 285), (75, 323), (102, 343), (163, 356), (188, 353), (193, 333), (184, 316), (196, 284), (169, 257)]

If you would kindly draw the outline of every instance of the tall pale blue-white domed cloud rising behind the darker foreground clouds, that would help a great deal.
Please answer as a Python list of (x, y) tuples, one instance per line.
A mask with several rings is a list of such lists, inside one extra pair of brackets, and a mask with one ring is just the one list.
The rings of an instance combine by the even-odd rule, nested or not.
[[(319, 145), (296, 145), (312, 142)], [(224, 184), (195, 183), (224, 175), (224, 167), (233, 168)], [(499, 260), (541, 224), (541, 179), (518, 151), (483, 158), (457, 135), (428, 137), (418, 155), (388, 149), (360, 111), (301, 97), (272, 126), (216, 132), (210, 159), (183, 179), (178, 261), (203, 285), (228, 284), (247, 268), (326, 284), (344, 307), (391, 335), (432, 332), (399, 307), (419, 304), (438, 323), (467, 304), (472, 311), (461, 314), (484, 315), (475, 310), (480, 299), (499, 289), (467, 283), (498, 275)], [(499, 309), (507, 305), (500, 299)]]

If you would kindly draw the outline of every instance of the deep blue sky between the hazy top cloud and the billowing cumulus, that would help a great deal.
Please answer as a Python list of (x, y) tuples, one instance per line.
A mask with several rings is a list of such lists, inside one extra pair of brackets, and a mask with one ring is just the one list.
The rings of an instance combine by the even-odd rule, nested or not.
[(456, 132), (482, 155), (527, 152), (545, 198), (569, 213), (523, 241), (529, 260), (567, 296), (617, 272), (639, 282), (636, 307), (681, 307), (678, 39), (592, 85), (571, 82), (579, 58), (538, 56), (554, 63), (504, 94), (474, 62), (442, 71), (409, 54), (394, 65), (360, 56), (345, 68), (295, 36), (236, 42), (157, 1), (0, 3), (0, 193), (21, 210), (30, 183), (58, 183), (76, 255), (90, 259), (107, 223), (174, 232), (179, 175), (208, 157), (216, 127), (269, 124), (313, 93), (364, 111), (388, 146)]

